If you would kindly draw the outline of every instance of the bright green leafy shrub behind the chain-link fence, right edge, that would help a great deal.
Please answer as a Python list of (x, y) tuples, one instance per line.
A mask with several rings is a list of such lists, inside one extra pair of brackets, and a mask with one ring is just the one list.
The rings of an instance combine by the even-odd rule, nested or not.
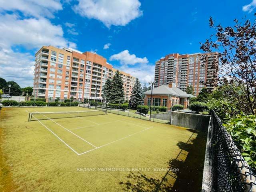
[(232, 136), (237, 148), (248, 164), (256, 169), (256, 115), (244, 113), (234, 116), (226, 124), (223, 124)]

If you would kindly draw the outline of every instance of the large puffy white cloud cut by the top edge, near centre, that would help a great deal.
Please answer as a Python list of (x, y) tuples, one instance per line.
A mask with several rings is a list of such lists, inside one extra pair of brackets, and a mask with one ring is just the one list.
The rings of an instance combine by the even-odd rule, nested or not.
[(142, 15), (138, 0), (78, 0), (73, 7), (81, 16), (100, 20), (108, 28), (125, 26)]

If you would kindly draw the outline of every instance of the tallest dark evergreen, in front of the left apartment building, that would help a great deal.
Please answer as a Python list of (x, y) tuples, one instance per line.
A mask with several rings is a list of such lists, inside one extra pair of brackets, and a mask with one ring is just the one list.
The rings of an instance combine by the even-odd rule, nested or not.
[(124, 103), (124, 83), (118, 70), (111, 81), (110, 103)]

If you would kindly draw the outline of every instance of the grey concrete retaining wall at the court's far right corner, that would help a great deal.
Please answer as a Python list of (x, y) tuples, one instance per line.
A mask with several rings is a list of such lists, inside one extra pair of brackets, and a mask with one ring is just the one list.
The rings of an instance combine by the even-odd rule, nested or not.
[[(153, 114), (151, 118), (170, 121), (171, 112)], [(172, 112), (171, 125), (176, 125), (194, 130), (207, 131), (209, 120), (209, 115)]]

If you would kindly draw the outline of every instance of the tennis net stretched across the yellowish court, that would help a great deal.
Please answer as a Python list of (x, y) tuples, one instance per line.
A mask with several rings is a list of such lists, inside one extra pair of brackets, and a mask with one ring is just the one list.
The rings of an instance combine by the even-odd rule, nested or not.
[(70, 112), (34, 112), (29, 113), (28, 121), (72, 118), (72, 117), (86, 117), (95, 115), (105, 115), (107, 110), (90, 110), (90, 111), (70, 111)]

